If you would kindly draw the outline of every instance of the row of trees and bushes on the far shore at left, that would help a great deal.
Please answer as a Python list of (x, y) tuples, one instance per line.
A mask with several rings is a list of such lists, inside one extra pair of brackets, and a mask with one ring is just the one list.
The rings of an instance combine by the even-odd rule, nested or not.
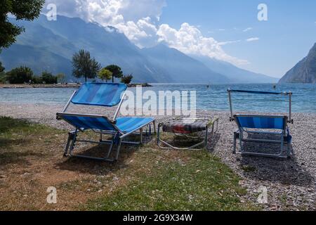
[[(79, 81), (84, 79), (85, 82), (107, 82), (112, 79), (112, 83), (114, 83), (117, 79), (120, 79), (119, 82), (129, 87), (138, 85), (150, 86), (149, 84), (132, 84), (133, 75), (124, 75), (124, 72), (118, 65), (107, 65), (105, 68), (102, 68), (100, 63), (98, 63), (95, 58), (91, 58), (90, 53), (83, 49), (78, 53), (74, 53), (72, 64), (72, 75), (76, 78), (81, 78)], [(80, 86), (78, 80), (74, 84), (68, 84), (69, 79), (67, 79), (67, 76), (63, 73), (53, 75), (51, 72), (44, 71), (41, 72), (41, 75), (34, 75), (32, 69), (26, 66), (20, 66), (8, 72), (6, 72), (5, 69), (6, 68), (4, 68), (0, 62), (0, 88), (74, 88)]]

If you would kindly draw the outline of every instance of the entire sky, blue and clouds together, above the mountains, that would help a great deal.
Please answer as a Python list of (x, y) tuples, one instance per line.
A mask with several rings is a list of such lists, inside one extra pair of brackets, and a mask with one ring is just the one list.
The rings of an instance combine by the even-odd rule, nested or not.
[[(282, 77), (316, 42), (315, 0), (46, 0), (58, 14), (111, 25), (140, 48), (159, 42)], [(258, 20), (258, 5), (268, 21)], [(246, 41), (248, 39), (248, 41)]]

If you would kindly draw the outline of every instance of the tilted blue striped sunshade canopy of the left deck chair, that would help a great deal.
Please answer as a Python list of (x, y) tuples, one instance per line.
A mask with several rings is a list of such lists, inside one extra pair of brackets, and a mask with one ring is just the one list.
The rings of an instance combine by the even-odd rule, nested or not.
[(72, 103), (112, 107), (119, 104), (126, 89), (126, 84), (85, 83), (72, 98)]

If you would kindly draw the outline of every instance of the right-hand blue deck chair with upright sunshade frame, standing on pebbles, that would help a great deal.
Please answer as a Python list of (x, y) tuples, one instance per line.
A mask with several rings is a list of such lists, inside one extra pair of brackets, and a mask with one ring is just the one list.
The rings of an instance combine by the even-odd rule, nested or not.
[[(284, 115), (247, 115), (232, 113), (232, 92), (249, 93), (249, 94), (278, 94), (289, 96), (289, 117)], [(238, 131), (234, 133), (234, 150), (236, 153), (236, 142), (239, 139), (240, 153), (242, 155), (255, 155), (270, 158), (290, 158), (293, 153), (291, 150), (291, 135), (289, 134), (288, 123), (293, 124), (291, 120), (291, 92), (265, 92), (265, 91), (244, 91), (244, 90), (231, 90), (228, 89), (228, 96), (230, 101), (230, 121), (235, 121), (238, 126)], [(275, 136), (277, 139), (261, 139), (261, 138), (245, 138), (245, 134), (258, 135), (258, 136)], [(249, 152), (244, 149), (243, 143), (245, 142), (257, 142), (257, 143), (279, 143), (280, 150), (278, 153), (257, 153)], [(287, 145), (287, 153), (284, 154), (283, 147)]]

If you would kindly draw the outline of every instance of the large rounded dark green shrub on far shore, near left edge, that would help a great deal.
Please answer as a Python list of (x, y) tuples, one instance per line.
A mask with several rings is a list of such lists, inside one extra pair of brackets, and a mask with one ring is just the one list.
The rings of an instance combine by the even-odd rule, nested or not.
[(10, 84), (23, 84), (32, 80), (33, 71), (30, 68), (21, 66), (6, 73), (6, 80)]

